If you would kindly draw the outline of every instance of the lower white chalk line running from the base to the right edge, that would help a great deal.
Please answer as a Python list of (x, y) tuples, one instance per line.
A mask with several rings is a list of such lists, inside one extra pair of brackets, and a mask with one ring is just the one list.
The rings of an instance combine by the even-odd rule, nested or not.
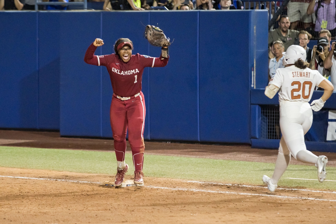
[(146, 187), (165, 189), (165, 190), (182, 190), (182, 191), (208, 192), (208, 193), (221, 193), (221, 194), (239, 194), (239, 195), (249, 195), (249, 196), (264, 196), (264, 197), (277, 197), (277, 198), (290, 198), (290, 199), (308, 199), (308, 200), (318, 200), (318, 201), (336, 201), (336, 200), (330, 200), (330, 199), (320, 199), (320, 198), (311, 198), (311, 197), (291, 197), (291, 196), (272, 195), (272, 194), (253, 194), (253, 193), (239, 193), (239, 192), (231, 192), (231, 191), (198, 190), (198, 189), (155, 187), (155, 186), (146, 186)]

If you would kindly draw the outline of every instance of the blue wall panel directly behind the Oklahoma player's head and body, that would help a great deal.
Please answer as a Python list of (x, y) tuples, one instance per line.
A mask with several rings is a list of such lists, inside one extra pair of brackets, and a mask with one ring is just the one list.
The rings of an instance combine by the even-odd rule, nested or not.
[[(118, 23), (115, 23), (118, 21)], [(102, 12), (102, 39), (104, 45), (101, 47), (101, 54), (114, 52), (114, 43), (119, 38), (129, 38), (133, 42), (132, 54), (148, 55), (149, 43), (143, 38), (143, 25), (149, 23), (149, 12)], [(100, 49), (97, 49), (96, 55)], [(148, 69), (145, 69), (142, 76), (142, 92), (145, 97), (146, 118), (144, 138), (149, 136), (149, 100), (148, 100)], [(112, 86), (109, 73), (106, 67), (102, 67), (102, 136), (112, 137), (110, 124), (110, 104), (112, 99)]]

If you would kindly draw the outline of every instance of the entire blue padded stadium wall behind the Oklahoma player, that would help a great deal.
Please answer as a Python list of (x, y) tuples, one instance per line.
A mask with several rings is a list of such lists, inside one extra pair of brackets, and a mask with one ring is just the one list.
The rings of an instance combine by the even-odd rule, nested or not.
[(151, 24), (174, 42), (168, 65), (143, 73), (144, 138), (251, 143), (251, 84), (267, 84), (258, 79), (267, 76), (266, 21), (266, 10), (0, 12), (0, 127), (112, 137), (109, 75), (86, 64), (85, 51), (102, 38), (95, 54), (110, 54), (128, 37), (134, 53), (159, 56), (142, 38)]

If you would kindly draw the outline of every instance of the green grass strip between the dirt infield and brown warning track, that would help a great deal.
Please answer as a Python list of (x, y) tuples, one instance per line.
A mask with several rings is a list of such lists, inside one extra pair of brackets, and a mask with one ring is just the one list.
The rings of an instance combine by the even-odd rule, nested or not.
[[(130, 165), (128, 174), (132, 174), (134, 168), (131, 153), (126, 153), (126, 163)], [(117, 169), (114, 152), (10, 146), (0, 146), (0, 167), (111, 175), (115, 175)], [(149, 177), (260, 185), (262, 175), (271, 176), (274, 167), (275, 164), (272, 163), (145, 154), (143, 171)], [(327, 167), (327, 173), (327, 179), (336, 180), (335, 167)], [(314, 166), (290, 165), (278, 185), (336, 190), (336, 182), (319, 183), (285, 177), (317, 179), (317, 169)]]

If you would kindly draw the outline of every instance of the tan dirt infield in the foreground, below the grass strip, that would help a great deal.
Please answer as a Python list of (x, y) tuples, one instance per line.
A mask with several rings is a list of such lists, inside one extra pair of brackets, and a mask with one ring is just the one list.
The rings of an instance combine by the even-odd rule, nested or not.
[[(14, 168), (0, 168), (0, 175), (90, 182), (113, 179)], [(0, 223), (335, 223), (335, 201), (298, 198), (336, 200), (335, 193), (280, 189), (271, 194), (261, 187), (149, 177), (145, 185), (115, 189), (97, 183), (0, 177)]]

